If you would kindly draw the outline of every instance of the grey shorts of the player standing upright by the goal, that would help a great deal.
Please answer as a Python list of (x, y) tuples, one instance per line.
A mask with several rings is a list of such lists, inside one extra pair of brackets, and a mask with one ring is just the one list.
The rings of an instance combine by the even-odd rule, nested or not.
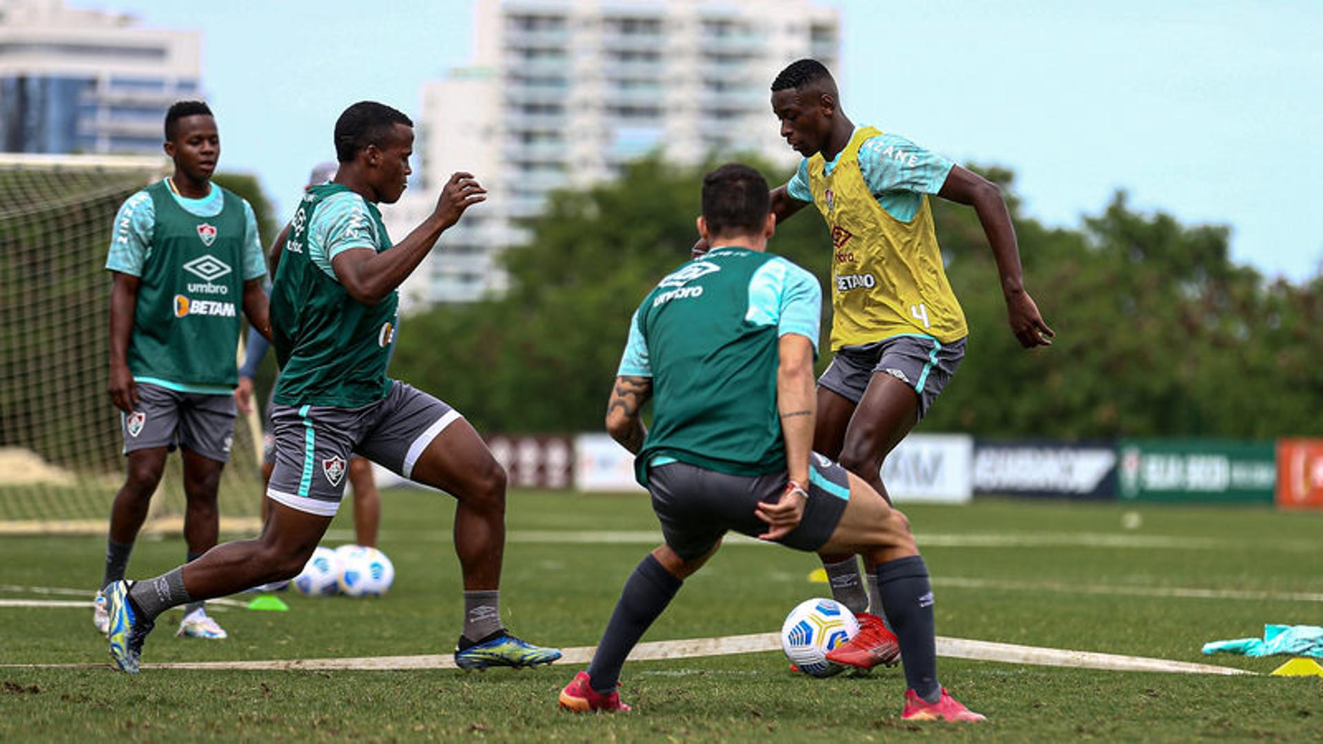
[(234, 441), (234, 396), (181, 393), (151, 383), (136, 383), (132, 413), (119, 414), (124, 454), (176, 446), (217, 462), (229, 462)]

